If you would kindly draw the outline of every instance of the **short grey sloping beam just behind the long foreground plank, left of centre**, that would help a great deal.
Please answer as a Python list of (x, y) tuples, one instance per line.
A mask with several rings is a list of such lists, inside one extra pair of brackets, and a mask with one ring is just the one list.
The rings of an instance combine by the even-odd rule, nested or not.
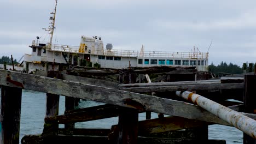
[(95, 85), (95, 86), (108, 87), (108, 88), (114, 88), (114, 89), (118, 87), (118, 83), (111, 82), (111, 81), (91, 79), (88, 77), (81, 77), (81, 76), (74, 76), (74, 75), (67, 75), (67, 74), (62, 74), (62, 76), (63, 76), (63, 80), (66, 80), (66, 81), (73, 81), (73, 82), (79, 82), (79, 83), (84, 83), (88, 85)]

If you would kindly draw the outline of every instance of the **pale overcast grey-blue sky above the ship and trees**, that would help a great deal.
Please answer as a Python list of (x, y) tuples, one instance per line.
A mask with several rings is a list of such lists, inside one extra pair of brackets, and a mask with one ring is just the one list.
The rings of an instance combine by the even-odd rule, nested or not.
[[(1, 1), (0, 56), (31, 53), (37, 36), (48, 41), (55, 0)], [(256, 62), (255, 0), (60, 0), (53, 43), (79, 46), (80, 37), (102, 37), (113, 49), (207, 52), (209, 63)]]

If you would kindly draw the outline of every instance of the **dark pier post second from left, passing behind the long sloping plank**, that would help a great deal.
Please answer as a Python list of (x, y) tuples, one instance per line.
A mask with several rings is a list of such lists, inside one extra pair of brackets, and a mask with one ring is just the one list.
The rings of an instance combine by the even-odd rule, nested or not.
[[(47, 77), (58, 77), (56, 71), (48, 71)], [(46, 114), (45, 117), (59, 115), (60, 95), (46, 93)], [(42, 135), (57, 135), (59, 124), (44, 123)]]

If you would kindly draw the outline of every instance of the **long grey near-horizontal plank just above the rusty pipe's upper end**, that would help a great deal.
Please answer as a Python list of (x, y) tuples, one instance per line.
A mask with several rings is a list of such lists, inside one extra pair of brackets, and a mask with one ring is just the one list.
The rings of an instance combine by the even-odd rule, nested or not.
[(175, 91), (200, 91), (218, 89), (243, 89), (245, 83), (200, 83), (198, 85), (178, 85), (178, 86), (152, 86), (152, 87), (131, 87), (118, 88), (127, 92), (146, 93), (146, 92), (175, 92)]

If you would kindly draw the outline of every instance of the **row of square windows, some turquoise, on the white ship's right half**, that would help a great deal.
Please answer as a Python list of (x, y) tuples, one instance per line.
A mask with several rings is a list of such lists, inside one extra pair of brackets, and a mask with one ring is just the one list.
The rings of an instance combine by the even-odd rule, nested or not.
[[(173, 59), (150, 59), (150, 64), (159, 65), (206, 65), (206, 61), (194, 61), (194, 60), (174, 60)], [(181, 64), (182, 63), (182, 64)], [(143, 64), (143, 59), (138, 59), (138, 64)], [(149, 64), (149, 59), (144, 59), (144, 64)]]

